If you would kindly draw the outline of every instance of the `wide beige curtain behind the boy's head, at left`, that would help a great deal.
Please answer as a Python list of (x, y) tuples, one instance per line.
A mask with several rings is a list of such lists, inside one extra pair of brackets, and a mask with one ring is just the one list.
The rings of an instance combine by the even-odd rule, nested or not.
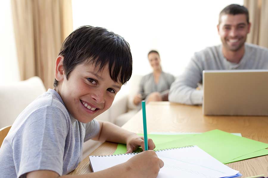
[(55, 59), (73, 30), (71, 0), (11, 0), (21, 80), (53, 87)]

